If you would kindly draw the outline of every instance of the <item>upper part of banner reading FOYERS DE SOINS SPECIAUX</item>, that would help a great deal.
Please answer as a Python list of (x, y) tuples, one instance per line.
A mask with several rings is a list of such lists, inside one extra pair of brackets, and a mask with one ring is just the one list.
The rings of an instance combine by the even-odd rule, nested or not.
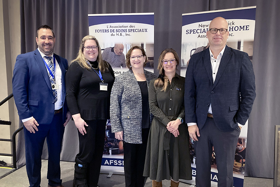
[(125, 55), (133, 46), (144, 48), (149, 61), (145, 69), (154, 71), (154, 13), (88, 14), (88, 24), (115, 76), (128, 70)]

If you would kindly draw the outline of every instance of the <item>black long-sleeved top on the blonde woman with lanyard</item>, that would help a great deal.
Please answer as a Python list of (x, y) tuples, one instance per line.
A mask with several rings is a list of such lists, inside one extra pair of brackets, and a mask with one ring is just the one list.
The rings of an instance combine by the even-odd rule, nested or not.
[(97, 61), (89, 61), (91, 69), (83, 68), (73, 62), (67, 70), (66, 99), (71, 115), (80, 113), (84, 120), (110, 119), (110, 94), (115, 76), (109, 65), (107, 72), (101, 73), (108, 91), (100, 90)]

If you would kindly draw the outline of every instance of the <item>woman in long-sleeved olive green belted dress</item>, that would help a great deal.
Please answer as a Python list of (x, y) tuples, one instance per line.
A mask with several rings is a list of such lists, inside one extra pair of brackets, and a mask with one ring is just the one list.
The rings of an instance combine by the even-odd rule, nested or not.
[(150, 177), (153, 187), (171, 179), (171, 187), (179, 179), (192, 180), (189, 159), (189, 133), (184, 118), (184, 77), (176, 73), (179, 57), (175, 50), (161, 52), (160, 75), (149, 86), (152, 121), (143, 176)]

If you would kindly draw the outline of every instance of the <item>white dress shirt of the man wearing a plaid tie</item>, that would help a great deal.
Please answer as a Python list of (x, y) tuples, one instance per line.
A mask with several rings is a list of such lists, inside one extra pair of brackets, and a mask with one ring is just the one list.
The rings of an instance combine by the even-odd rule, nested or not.
[[(38, 48), (38, 50), (40, 52), (40, 55), (44, 59), (44, 61), (47, 63), (48, 60), (45, 57), (46, 55), (44, 53), (42, 53), (39, 48)], [(52, 58), (52, 63), (54, 63), (54, 53), (51, 56), (53, 57)], [(47, 70), (47, 72), (49, 74), (49, 70), (47, 69), (47, 67), (46, 67), (46, 70)], [(61, 73), (60, 66), (57, 63), (56, 59), (55, 59), (54, 76), (55, 76), (55, 82), (56, 82), (56, 84), (58, 84), (58, 89), (56, 90), (57, 91), (57, 101), (54, 103), (54, 110), (58, 110), (58, 109), (62, 108), (62, 106), (63, 106), (63, 102), (62, 102), (62, 79), (61, 79), (62, 73)], [(26, 119), (22, 119), (21, 121), (22, 122), (26, 122), (26, 121), (28, 121), (28, 120), (30, 120), (32, 118), (33, 118), (33, 116), (29, 117), (29, 118), (26, 118)]]

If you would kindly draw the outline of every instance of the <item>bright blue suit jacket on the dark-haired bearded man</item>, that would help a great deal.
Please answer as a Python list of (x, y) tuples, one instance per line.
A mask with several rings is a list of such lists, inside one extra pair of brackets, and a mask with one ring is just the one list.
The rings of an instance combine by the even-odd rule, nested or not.
[[(54, 54), (62, 77), (63, 122), (66, 119), (65, 73), (66, 59)], [(49, 74), (38, 49), (18, 55), (13, 73), (13, 95), (20, 120), (31, 116), (39, 124), (50, 124), (54, 117), (54, 95)]]

